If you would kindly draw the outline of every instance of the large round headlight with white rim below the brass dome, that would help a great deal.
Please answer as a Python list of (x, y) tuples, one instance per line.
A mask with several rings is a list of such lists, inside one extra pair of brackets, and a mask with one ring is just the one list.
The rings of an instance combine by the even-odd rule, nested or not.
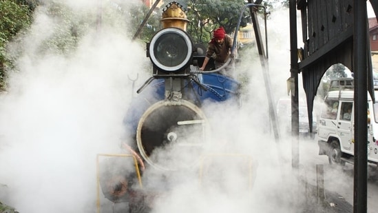
[(158, 68), (174, 72), (191, 59), (193, 45), (186, 32), (178, 28), (160, 30), (151, 39), (149, 57)]

